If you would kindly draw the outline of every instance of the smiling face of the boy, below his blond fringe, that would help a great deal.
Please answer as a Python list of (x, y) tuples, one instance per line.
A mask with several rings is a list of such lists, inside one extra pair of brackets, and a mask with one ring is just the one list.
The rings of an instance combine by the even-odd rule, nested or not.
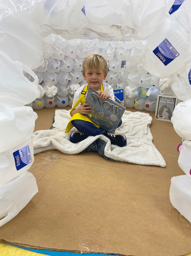
[(92, 88), (96, 91), (99, 91), (101, 88), (101, 84), (103, 82), (103, 79), (106, 79), (106, 75), (104, 75), (103, 70), (101, 69), (87, 69), (85, 70), (85, 74), (83, 74), (84, 79), (86, 80), (88, 84), (88, 89)]

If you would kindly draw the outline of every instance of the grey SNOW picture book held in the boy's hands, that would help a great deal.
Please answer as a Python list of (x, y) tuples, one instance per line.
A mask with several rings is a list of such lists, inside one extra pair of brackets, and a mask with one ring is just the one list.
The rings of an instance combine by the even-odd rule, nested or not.
[(86, 116), (104, 130), (113, 133), (117, 128), (125, 107), (110, 98), (106, 100), (98, 96), (98, 92), (89, 88), (85, 103), (89, 103), (92, 111)]

